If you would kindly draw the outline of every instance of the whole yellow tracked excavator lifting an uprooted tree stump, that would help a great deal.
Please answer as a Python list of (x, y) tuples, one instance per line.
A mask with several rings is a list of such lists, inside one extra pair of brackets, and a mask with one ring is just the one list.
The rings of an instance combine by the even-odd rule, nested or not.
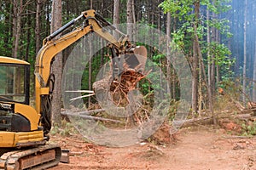
[[(83, 26), (67, 31), (78, 20)], [(118, 31), (116, 40), (105, 27)], [(46, 37), (35, 64), (35, 109), (29, 105), (30, 64), (24, 60), (0, 57), (0, 169), (46, 169), (61, 160), (61, 147), (49, 144), (51, 128), (51, 98), (55, 76), (51, 65), (55, 54), (69, 47), (80, 38), (95, 32), (108, 41), (111, 49), (113, 71), (119, 69), (122, 54), (146, 54), (144, 47), (136, 47), (95, 10), (84, 11)], [(62, 35), (61, 35), (62, 33)], [(134, 58), (135, 63), (139, 61)]]

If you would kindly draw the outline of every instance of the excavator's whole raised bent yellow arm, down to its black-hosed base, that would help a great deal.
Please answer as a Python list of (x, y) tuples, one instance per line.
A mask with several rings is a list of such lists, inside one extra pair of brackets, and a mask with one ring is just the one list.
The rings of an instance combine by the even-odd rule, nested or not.
[[(73, 31), (55, 38), (81, 19), (84, 19), (83, 26), (79, 26)], [(115, 37), (106, 30), (106, 26), (114, 31), (118, 31), (114, 26), (108, 23), (107, 20), (104, 20), (100, 14), (97, 14), (95, 10), (90, 9), (84, 11), (78, 18), (71, 20), (65, 26), (62, 26), (44, 39), (43, 47), (38, 52), (35, 65), (36, 111), (43, 116), (42, 124), (45, 129), (44, 133), (49, 132), (51, 124), (51, 111), (49, 109), (51, 102), (49, 94), (53, 91), (54, 76), (50, 74), (50, 68), (56, 54), (60, 53), (63, 49), (69, 47), (74, 42), (77, 42), (80, 38), (90, 32), (96, 32), (99, 37), (102, 37), (109, 42), (108, 48), (111, 48), (113, 54), (112, 57), (116, 57), (119, 54), (133, 53), (131, 51), (133, 45), (128, 41), (128, 37), (118, 31), (122, 37), (120, 37), (119, 40), (116, 40)]]

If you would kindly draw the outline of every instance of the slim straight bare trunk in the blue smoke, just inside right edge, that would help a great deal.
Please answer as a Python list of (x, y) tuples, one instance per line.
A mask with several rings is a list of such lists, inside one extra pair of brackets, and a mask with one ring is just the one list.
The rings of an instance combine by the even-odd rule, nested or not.
[(242, 70), (242, 102), (246, 104), (246, 76), (247, 76), (247, 0), (244, 7), (244, 31), (243, 31), (243, 70)]

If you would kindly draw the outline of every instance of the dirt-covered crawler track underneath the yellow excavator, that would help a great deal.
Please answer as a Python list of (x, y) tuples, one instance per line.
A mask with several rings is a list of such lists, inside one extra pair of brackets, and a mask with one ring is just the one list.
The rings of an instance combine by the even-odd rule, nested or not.
[(61, 148), (55, 144), (13, 150), (0, 157), (0, 170), (47, 169), (61, 161)]

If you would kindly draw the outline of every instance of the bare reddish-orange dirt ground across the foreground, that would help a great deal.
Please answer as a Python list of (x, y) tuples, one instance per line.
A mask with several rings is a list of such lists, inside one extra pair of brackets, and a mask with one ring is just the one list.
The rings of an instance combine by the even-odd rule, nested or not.
[(256, 137), (241, 139), (208, 127), (181, 129), (173, 144), (141, 143), (108, 148), (83, 142), (78, 134), (54, 136), (69, 149), (70, 163), (63, 169), (164, 169), (164, 170), (256, 170)]

